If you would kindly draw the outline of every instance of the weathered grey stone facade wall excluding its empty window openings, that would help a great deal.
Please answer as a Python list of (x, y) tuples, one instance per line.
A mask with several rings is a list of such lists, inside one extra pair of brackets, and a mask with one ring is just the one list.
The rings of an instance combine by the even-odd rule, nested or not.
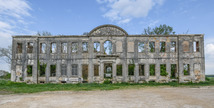
[[(115, 32), (114, 32), (115, 31)], [(104, 53), (104, 42), (112, 42), (113, 53)], [(155, 42), (155, 52), (149, 51), (149, 42)], [(176, 52), (170, 52), (170, 43), (176, 42)], [(199, 42), (199, 52), (193, 51), (193, 42)], [(27, 43), (33, 42), (33, 53), (27, 53)], [(56, 43), (56, 53), (51, 53), (51, 43)], [(78, 51), (72, 52), (72, 43), (78, 43)], [(83, 52), (82, 43), (88, 42), (88, 52)], [(94, 42), (100, 43), (100, 52), (94, 52)], [(144, 42), (144, 52), (138, 52), (138, 43)], [(166, 51), (160, 52), (160, 42), (166, 43)], [(22, 53), (17, 53), (17, 43), (22, 43)], [(37, 53), (40, 43), (46, 44), (46, 53)], [(61, 53), (61, 44), (67, 43), (67, 53)], [(39, 54), (39, 59), (37, 59)], [(204, 36), (203, 35), (128, 35), (119, 27), (108, 25), (92, 30), (87, 36), (14, 36), (11, 80), (37, 82), (37, 63), (46, 64), (45, 76), (40, 82), (78, 83), (83, 81), (82, 65), (88, 65), (88, 82), (104, 81), (104, 64), (112, 64), (112, 82), (169, 82), (178, 80), (204, 81)], [(61, 65), (66, 64), (67, 74), (61, 75)], [(77, 64), (77, 75), (72, 75), (72, 64)], [(94, 76), (94, 65), (99, 65), (99, 76)], [(122, 76), (116, 75), (117, 65), (122, 65)], [(128, 75), (128, 65), (135, 64), (134, 75)], [(144, 76), (139, 76), (139, 64), (144, 65)], [(149, 65), (155, 64), (155, 76), (149, 75)], [(167, 76), (160, 75), (160, 64), (166, 64)], [(177, 64), (178, 79), (171, 79), (171, 64)], [(184, 75), (183, 65), (189, 64), (190, 75)], [(27, 65), (32, 65), (32, 77), (27, 77)], [(50, 77), (50, 65), (56, 65), (56, 77)]]

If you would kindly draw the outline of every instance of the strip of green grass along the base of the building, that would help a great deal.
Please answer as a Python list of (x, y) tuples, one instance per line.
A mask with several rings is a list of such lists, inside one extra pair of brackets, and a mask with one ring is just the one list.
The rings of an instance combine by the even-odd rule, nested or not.
[(89, 90), (114, 90), (114, 89), (132, 89), (142, 87), (155, 87), (155, 86), (172, 86), (172, 87), (200, 87), (200, 86), (214, 86), (214, 77), (207, 77), (205, 82), (200, 83), (143, 83), (143, 84), (97, 84), (97, 83), (83, 83), (83, 84), (26, 84), (11, 82), (9, 80), (0, 80), (0, 94), (13, 94), (13, 93), (36, 93), (43, 91), (89, 91)]

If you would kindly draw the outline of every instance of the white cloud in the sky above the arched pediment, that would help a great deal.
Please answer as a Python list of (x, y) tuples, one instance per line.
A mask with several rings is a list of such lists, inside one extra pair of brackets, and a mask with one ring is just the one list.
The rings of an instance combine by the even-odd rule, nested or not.
[(118, 23), (128, 23), (133, 18), (146, 17), (155, 5), (164, 0), (97, 0), (109, 9), (103, 16)]

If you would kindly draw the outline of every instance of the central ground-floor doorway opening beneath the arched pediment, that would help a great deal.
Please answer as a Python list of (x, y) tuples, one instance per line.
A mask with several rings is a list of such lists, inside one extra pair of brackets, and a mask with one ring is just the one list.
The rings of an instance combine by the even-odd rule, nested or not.
[(104, 78), (106, 79), (112, 78), (112, 63), (104, 64)]

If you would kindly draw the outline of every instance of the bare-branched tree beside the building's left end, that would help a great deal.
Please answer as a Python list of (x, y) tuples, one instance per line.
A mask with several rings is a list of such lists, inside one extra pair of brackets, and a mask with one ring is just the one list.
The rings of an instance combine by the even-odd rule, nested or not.
[(0, 58), (4, 60), (9, 66), (12, 60), (12, 46), (9, 45), (7, 48), (0, 48)]

